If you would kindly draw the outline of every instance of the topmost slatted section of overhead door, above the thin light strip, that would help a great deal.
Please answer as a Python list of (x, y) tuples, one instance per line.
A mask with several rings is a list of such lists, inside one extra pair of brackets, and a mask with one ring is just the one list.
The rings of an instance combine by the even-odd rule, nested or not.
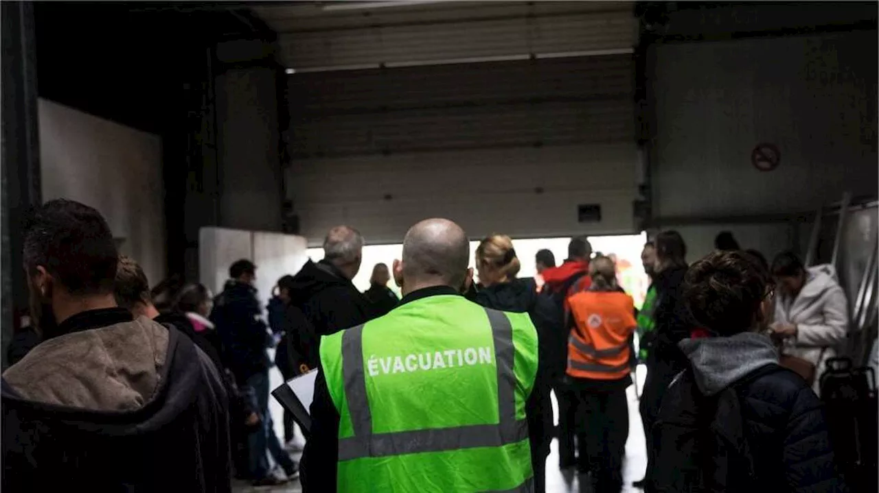
[(633, 46), (637, 32), (627, 2), (345, 4), (253, 11), (279, 33), (287, 67), (296, 70), (614, 50)]

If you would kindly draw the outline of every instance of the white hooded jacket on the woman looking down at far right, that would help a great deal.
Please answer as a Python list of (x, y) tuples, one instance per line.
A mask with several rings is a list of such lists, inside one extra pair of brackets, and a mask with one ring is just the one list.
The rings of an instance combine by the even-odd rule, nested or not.
[(834, 347), (848, 332), (848, 302), (836, 269), (829, 264), (808, 268), (800, 294), (793, 300), (779, 297), (775, 303), (775, 321), (796, 325), (796, 337), (785, 341), (781, 352), (817, 366), (813, 386), (817, 393), (825, 361), (836, 355)]

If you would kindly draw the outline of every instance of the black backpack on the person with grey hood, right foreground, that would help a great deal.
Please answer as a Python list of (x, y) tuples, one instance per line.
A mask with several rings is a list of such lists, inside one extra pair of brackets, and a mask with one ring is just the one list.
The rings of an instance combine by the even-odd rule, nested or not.
[(704, 396), (692, 368), (679, 374), (663, 398), (653, 429), (656, 491), (761, 491), (737, 389), (759, 377), (789, 371), (769, 364), (716, 396)]

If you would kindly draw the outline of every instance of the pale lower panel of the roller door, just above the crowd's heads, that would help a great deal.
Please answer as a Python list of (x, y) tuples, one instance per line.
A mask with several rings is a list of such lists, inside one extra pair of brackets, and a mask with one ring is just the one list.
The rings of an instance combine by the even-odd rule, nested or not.
[[(311, 245), (339, 224), (370, 243), (398, 242), (431, 217), (473, 238), (630, 233), (636, 160), (628, 144), (352, 156), (294, 161), (290, 181)], [(602, 221), (578, 223), (578, 204), (601, 204)]]

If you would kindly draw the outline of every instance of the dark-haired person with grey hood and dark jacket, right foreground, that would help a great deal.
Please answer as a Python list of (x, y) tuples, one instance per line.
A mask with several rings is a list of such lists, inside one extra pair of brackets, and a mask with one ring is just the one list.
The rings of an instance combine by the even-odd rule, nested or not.
[(709, 336), (679, 342), (686, 370), (653, 428), (654, 490), (845, 490), (820, 401), (761, 333), (773, 294), (768, 273), (742, 252), (689, 269), (682, 296)]

